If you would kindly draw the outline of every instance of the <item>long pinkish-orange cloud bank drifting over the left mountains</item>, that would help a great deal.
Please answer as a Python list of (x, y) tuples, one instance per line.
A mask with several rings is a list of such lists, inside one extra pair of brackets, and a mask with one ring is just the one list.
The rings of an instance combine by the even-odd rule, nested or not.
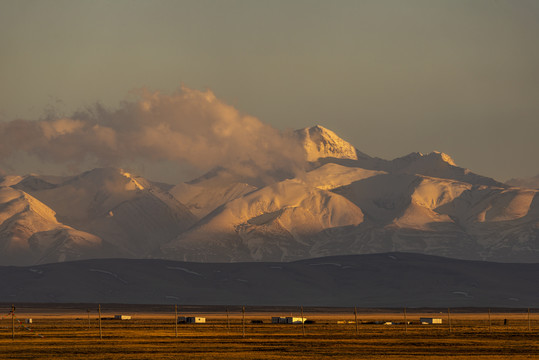
[(202, 171), (224, 166), (244, 175), (302, 169), (303, 148), (281, 132), (242, 114), (212, 91), (182, 87), (165, 95), (147, 89), (117, 109), (95, 104), (69, 117), (0, 123), (0, 167), (16, 155), (76, 166), (126, 166), (172, 161)]

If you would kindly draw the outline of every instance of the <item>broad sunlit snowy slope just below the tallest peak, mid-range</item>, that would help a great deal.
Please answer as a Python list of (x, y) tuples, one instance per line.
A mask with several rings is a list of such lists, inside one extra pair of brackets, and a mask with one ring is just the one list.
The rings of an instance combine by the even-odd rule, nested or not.
[(361, 210), (344, 197), (285, 180), (226, 203), (167, 244), (164, 252), (200, 260), (212, 256), (202, 249), (226, 247), (230, 260), (283, 260), (307, 251), (306, 236), (362, 221)]

